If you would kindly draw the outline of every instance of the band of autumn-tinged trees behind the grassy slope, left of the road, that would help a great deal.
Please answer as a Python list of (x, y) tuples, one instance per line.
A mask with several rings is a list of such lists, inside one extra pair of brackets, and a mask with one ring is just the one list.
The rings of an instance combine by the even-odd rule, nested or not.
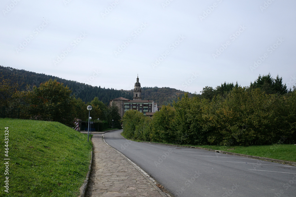
[[(0, 118), (20, 118), (41, 121), (57, 121), (74, 127), (76, 118), (88, 121), (88, 105), (92, 106), (91, 117), (94, 128), (100, 131), (111, 128), (121, 129), (119, 109), (116, 105), (107, 107), (98, 97), (91, 102), (83, 102), (71, 95), (72, 91), (64, 84), (49, 79), (37, 86), (27, 86), (0, 73)], [(99, 118), (99, 120), (98, 120)]]

